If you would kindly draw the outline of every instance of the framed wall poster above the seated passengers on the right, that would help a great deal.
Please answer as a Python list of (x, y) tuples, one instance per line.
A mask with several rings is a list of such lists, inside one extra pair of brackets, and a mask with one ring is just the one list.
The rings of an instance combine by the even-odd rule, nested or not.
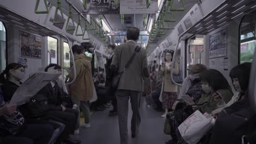
[(226, 29), (210, 35), (209, 58), (226, 56)]

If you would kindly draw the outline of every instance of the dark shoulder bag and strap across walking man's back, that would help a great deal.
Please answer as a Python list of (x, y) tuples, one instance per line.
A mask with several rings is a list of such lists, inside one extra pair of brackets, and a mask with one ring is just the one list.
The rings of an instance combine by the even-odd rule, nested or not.
[(117, 89), (118, 88), (118, 84), (119, 84), (119, 81), (120, 81), (120, 78), (121, 76), (124, 74), (125, 70), (130, 66), (130, 64), (132, 63), (134, 57), (136, 56), (136, 53), (138, 53), (139, 51), (141, 50), (141, 47), (140, 46), (136, 46), (131, 58), (129, 59), (129, 61), (126, 63), (125, 65), (125, 68), (119, 72), (119, 73), (116, 73), (114, 76), (113, 76), (113, 79), (112, 79), (112, 88), (113, 89)]

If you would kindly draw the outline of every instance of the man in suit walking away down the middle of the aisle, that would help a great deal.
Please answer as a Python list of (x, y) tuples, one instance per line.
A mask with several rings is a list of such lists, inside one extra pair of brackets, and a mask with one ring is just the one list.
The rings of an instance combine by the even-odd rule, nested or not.
[[(139, 29), (131, 27), (127, 30), (127, 42), (117, 46), (114, 50), (114, 56), (110, 69), (114, 71), (122, 71), (136, 49), (136, 43), (139, 38)], [(121, 144), (128, 144), (127, 117), (129, 110), (129, 98), (131, 99), (132, 121), (131, 133), (132, 137), (138, 134), (141, 116), (139, 114), (139, 102), (142, 93), (143, 78), (149, 77), (146, 50), (141, 49), (136, 53), (135, 58), (121, 75), (119, 85), (116, 91), (119, 133)]]

